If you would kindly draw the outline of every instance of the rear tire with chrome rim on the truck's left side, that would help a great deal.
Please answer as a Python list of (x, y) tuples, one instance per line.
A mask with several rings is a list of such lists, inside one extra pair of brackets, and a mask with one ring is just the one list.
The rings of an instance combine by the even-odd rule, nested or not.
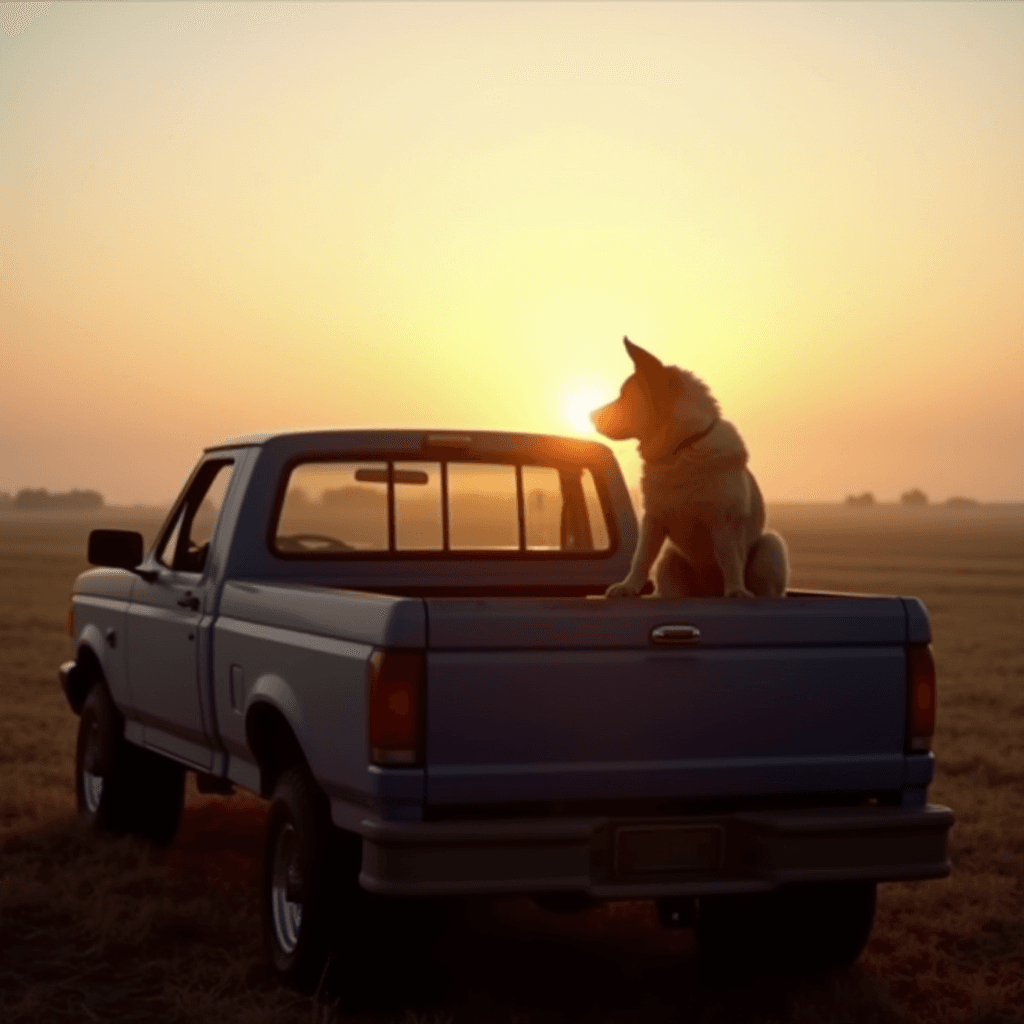
[(292, 988), (317, 986), (336, 925), (344, 940), (358, 941), (366, 894), (357, 842), (333, 826), (327, 798), (306, 771), (281, 776), (263, 847), (263, 944), (273, 973)]

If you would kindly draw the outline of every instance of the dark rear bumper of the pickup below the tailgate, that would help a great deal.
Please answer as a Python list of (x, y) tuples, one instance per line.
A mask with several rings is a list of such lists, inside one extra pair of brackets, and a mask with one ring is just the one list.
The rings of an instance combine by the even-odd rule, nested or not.
[[(656, 819), (364, 818), (359, 883), (403, 896), (574, 891), (644, 899), (764, 892), (795, 882), (937, 879), (950, 871), (952, 823), (952, 812), (934, 805)], [(633, 850), (624, 844), (634, 842), (624, 837), (639, 834), (656, 834), (645, 861), (624, 854)], [(666, 850), (683, 852), (667, 863)]]

